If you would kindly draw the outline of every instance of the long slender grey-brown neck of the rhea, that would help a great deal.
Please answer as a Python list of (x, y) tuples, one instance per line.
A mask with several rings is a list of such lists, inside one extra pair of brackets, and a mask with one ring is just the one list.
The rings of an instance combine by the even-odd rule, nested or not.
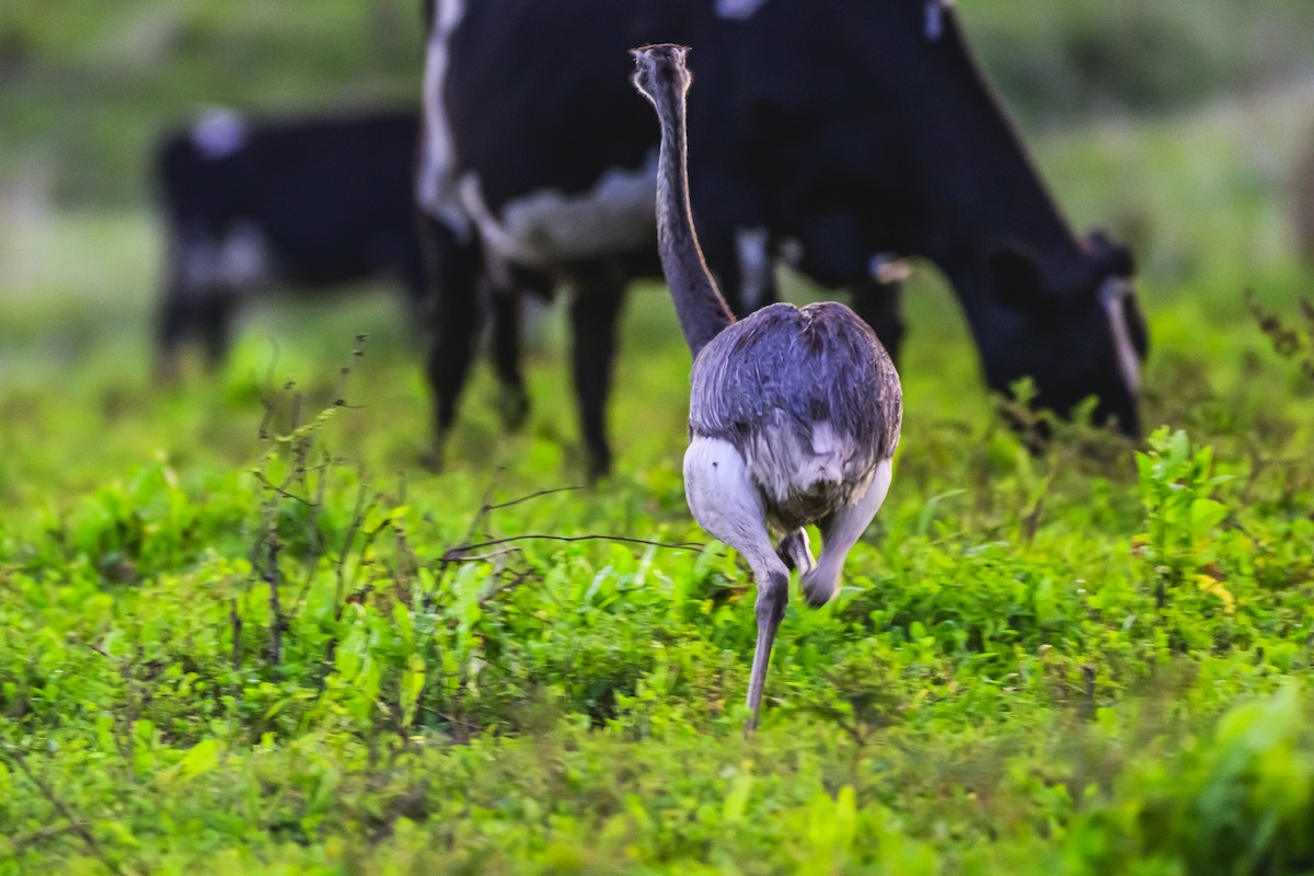
[(685, 112), (689, 80), (671, 68), (652, 72), (649, 97), (661, 123), (661, 150), (657, 156), (657, 250), (675, 302), (679, 327), (696, 359), (710, 340), (735, 322), (735, 317), (703, 260), (689, 205)]

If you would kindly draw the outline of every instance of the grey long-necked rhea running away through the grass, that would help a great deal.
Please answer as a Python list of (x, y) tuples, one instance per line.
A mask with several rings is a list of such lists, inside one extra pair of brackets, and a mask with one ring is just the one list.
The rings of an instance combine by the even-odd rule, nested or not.
[[(890, 489), (903, 391), (884, 347), (849, 307), (777, 303), (738, 322), (703, 260), (689, 202), (687, 49), (633, 50), (635, 85), (661, 123), (657, 243), (694, 355), (685, 496), (757, 582), (748, 726), (757, 726), (790, 569), (812, 605), (838, 590), (845, 557)], [(823, 538), (813, 559), (804, 527)], [(771, 531), (781, 535), (773, 544)]]

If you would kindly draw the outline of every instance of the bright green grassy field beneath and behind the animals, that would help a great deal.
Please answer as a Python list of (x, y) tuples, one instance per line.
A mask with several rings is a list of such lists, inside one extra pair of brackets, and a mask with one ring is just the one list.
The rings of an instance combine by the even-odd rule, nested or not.
[[(988, 59), (1081, 33), (961, 5)], [(558, 310), (524, 432), (484, 369), (442, 474), (382, 290), (251, 307), (222, 373), (159, 391), (129, 169), (150, 125), (243, 58), (269, 105), (322, 97), (306, 70), (386, 95), (410, 68), (342, 37), (296, 74), (197, 49), (185, 81), (116, 80), (96, 112), (135, 116), (105, 130), (59, 112), (55, 72), (95, 81), (129, 37), (281, 49), (294, 22), (71, 3), (59, 35), (0, 12), (35, 76), (0, 95), (24, 110), (0, 134), (22, 144), (0, 155), (0, 873), (1314, 872), (1314, 317), (1288, 231), (1314, 80), (1280, 64), (1306, 11), (1271, 5), (1286, 42), (1210, 54), (1223, 93), (1072, 121), (1017, 92), (1074, 223), (1137, 248), (1162, 428), (1059, 426), (1029, 454), (920, 267), (894, 489), (840, 598), (791, 602), (750, 739), (754, 594), (685, 507), (660, 288), (631, 298), (619, 473), (594, 489), (545, 493), (582, 470)], [(1200, 8), (1181, 39), (1230, 46), (1236, 7)], [(410, 39), (407, 4), (325, 9), (326, 33)]]

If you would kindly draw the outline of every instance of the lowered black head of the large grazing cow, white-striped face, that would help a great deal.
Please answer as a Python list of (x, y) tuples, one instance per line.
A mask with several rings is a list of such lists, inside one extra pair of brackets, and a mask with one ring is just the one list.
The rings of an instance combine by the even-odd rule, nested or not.
[(986, 285), (995, 306), (974, 320), (991, 387), (1007, 393), (1030, 377), (1037, 406), (1060, 414), (1095, 395), (1096, 423), (1116, 420), (1138, 437), (1148, 335), (1131, 274), (1131, 255), (1102, 231), (1081, 240), (1071, 265), (1046, 267), (1021, 246), (993, 250)]

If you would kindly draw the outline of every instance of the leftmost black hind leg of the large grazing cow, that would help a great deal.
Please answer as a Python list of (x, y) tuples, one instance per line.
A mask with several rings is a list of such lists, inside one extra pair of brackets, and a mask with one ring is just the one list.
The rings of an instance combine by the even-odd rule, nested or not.
[(473, 242), (430, 217), (420, 218), (430, 253), (435, 298), (430, 313), (428, 383), (434, 391), (435, 440), (431, 462), (442, 466), (447, 435), (456, 422), (456, 405), (469, 377), (478, 340), (480, 252)]

